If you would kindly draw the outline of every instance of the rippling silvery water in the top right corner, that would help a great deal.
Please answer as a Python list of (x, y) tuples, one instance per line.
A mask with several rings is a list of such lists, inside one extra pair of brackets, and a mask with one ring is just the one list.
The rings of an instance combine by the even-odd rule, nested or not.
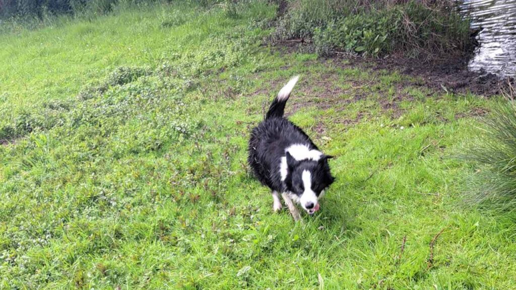
[(464, 0), (461, 8), (471, 17), (471, 27), (482, 29), (469, 69), (515, 77), (516, 0)]

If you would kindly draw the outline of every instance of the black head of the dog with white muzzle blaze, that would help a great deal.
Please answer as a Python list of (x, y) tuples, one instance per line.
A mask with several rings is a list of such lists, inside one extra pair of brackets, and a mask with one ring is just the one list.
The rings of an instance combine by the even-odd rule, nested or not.
[(309, 214), (319, 210), (319, 198), (335, 180), (328, 165), (330, 158), (333, 157), (321, 155), (318, 160), (296, 160), (291, 154), (286, 153), (286, 189), (292, 192), (292, 198)]

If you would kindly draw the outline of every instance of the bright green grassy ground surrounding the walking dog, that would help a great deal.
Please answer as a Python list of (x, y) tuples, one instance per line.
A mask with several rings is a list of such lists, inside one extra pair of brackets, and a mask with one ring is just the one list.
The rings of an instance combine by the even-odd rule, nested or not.
[[(461, 207), (448, 158), (493, 101), (261, 46), (275, 7), (196, 9), (0, 36), (0, 288), (513, 287), (514, 214)], [(294, 74), (337, 177), (300, 223), (246, 165)]]

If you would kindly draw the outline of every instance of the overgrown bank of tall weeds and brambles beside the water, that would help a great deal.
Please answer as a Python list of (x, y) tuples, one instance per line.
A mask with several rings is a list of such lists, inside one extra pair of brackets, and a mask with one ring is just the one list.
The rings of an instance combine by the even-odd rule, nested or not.
[(335, 52), (460, 55), (471, 49), (473, 41), (469, 22), (454, 5), (449, 0), (298, 0), (280, 20), (277, 37), (312, 38), (322, 56)]

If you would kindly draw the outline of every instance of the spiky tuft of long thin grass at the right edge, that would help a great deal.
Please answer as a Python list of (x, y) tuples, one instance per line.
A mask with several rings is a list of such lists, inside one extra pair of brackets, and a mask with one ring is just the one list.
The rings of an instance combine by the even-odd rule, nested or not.
[(497, 206), (516, 204), (516, 103), (497, 103), (481, 119), (478, 137), (459, 155), (476, 167), (466, 193), (468, 202)]

